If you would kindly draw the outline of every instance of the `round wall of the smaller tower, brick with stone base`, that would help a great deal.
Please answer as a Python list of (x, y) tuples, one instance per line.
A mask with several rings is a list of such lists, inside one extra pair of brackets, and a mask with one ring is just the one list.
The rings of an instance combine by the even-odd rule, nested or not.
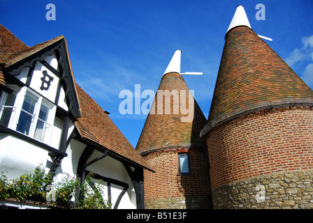
[[(178, 174), (177, 153), (190, 154), (190, 175)], [(205, 148), (165, 148), (144, 155), (155, 173), (144, 172), (145, 208), (210, 208), (210, 176)]]

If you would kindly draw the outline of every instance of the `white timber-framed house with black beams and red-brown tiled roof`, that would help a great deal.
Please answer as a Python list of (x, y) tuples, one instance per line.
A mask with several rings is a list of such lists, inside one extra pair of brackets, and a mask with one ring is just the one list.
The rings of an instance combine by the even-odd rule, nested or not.
[(43, 164), (82, 181), (93, 171), (112, 208), (143, 208), (143, 169), (151, 169), (75, 84), (64, 36), (28, 47), (1, 24), (0, 36), (0, 171), (18, 178)]

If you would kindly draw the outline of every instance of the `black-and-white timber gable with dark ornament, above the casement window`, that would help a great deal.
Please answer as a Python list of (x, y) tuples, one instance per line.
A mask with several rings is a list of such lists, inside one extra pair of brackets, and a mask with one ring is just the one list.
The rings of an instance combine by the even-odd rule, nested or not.
[(63, 36), (12, 54), (3, 65), (7, 85), (27, 86), (57, 105), (60, 114), (81, 116)]

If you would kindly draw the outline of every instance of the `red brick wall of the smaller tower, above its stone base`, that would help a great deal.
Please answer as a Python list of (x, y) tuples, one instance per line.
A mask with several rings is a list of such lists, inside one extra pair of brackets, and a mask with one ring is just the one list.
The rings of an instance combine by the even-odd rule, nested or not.
[[(177, 153), (189, 151), (191, 175), (177, 176)], [(205, 148), (170, 148), (144, 155), (155, 171), (145, 171), (145, 200), (182, 196), (210, 196), (210, 176)]]

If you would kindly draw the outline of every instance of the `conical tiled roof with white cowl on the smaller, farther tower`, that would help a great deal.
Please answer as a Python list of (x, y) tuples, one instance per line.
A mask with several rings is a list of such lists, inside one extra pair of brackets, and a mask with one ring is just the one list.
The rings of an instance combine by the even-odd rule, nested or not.
[[(175, 64), (180, 66), (178, 63), (180, 51), (175, 52), (173, 59), (170, 64), (175, 61)], [(150, 114), (140, 134), (136, 146), (139, 153), (171, 146), (203, 144), (203, 141), (199, 139), (199, 134), (207, 120), (194, 96), (189, 95), (189, 88), (184, 78), (179, 72), (175, 72), (180, 68), (170, 64), (168, 67), (172, 67), (173, 70), (167, 69), (162, 76)], [(170, 95), (172, 95), (170, 101), (166, 100)], [(193, 118), (191, 113), (194, 114)]]

